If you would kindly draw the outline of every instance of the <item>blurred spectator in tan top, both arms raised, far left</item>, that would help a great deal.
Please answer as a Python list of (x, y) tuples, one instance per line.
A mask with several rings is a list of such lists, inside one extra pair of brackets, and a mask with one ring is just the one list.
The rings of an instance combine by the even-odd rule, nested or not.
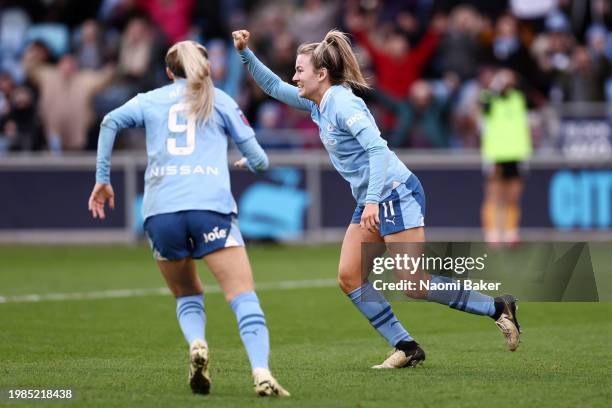
[(114, 68), (81, 70), (69, 54), (57, 65), (44, 64), (35, 48), (26, 50), (22, 63), (40, 92), (40, 116), (49, 149), (56, 153), (83, 149), (94, 119), (91, 99), (110, 82)]

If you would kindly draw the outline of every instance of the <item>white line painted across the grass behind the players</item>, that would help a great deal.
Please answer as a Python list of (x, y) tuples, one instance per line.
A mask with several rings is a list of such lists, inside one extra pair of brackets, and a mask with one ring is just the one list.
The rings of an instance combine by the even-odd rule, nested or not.
[[(290, 290), (290, 289), (311, 289), (311, 288), (330, 288), (338, 284), (336, 279), (309, 279), (280, 282), (262, 282), (255, 285), (255, 290)], [(221, 293), (218, 285), (206, 287), (204, 293)], [(151, 289), (113, 289), (95, 292), (74, 292), (74, 293), (45, 293), (15, 296), (0, 296), (1, 303), (36, 303), (46, 301), (66, 301), (66, 300), (91, 300), (91, 299), (112, 299), (112, 298), (132, 298), (142, 296), (166, 296), (170, 295), (168, 288)]]

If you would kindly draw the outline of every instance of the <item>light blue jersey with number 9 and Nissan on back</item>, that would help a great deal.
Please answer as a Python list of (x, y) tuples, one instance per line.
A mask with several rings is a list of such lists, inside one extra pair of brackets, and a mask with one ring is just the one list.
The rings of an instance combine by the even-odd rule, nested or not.
[(101, 125), (96, 180), (102, 183), (110, 182), (115, 133), (122, 128), (145, 128), (145, 219), (183, 210), (237, 212), (230, 188), (227, 135), (239, 145), (255, 133), (236, 102), (216, 88), (209, 119), (203, 123), (188, 118), (185, 85), (185, 80), (177, 80), (138, 94), (106, 115)]

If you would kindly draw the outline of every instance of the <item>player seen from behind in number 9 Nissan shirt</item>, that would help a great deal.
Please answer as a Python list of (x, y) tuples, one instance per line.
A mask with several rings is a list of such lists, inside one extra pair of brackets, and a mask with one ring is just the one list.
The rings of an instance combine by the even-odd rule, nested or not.
[(268, 329), (235, 221), (226, 135), (245, 156), (238, 167), (263, 171), (268, 158), (236, 103), (214, 88), (206, 48), (193, 41), (173, 45), (166, 54), (166, 73), (172, 84), (139, 94), (104, 117), (89, 210), (94, 218), (104, 219), (105, 203), (114, 207), (110, 157), (117, 132), (144, 127), (148, 154), (144, 227), (157, 265), (176, 297), (177, 318), (189, 344), (192, 391), (210, 390), (203, 287), (194, 262), (204, 258), (236, 315), (255, 392), (288, 396), (268, 368)]

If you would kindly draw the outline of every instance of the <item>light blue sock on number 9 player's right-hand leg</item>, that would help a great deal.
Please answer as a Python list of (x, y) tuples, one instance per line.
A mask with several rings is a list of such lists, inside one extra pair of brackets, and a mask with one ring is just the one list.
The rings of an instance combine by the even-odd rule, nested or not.
[(238, 331), (249, 356), (251, 369), (269, 369), (270, 337), (257, 295), (255, 292), (243, 292), (230, 302), (230, 306), (236, 315)]

